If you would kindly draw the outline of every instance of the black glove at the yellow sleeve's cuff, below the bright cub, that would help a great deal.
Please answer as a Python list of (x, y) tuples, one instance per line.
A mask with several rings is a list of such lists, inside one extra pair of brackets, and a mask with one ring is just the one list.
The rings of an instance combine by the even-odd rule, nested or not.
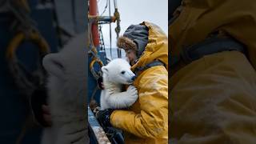
[(96, 114), (96, 118), (98, 119), (99, 124), (102, 127), (111, 126), (110, 124), (110, 115), (114, 110), (106, 109), (106, 110), (99, 110)]

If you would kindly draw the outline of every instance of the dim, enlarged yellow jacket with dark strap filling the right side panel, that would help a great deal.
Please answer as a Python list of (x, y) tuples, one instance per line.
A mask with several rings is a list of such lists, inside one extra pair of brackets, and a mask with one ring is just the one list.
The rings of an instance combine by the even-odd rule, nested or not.
[(255, 143), (256, 1), (183, 0), (173, 14), (170, 143)]

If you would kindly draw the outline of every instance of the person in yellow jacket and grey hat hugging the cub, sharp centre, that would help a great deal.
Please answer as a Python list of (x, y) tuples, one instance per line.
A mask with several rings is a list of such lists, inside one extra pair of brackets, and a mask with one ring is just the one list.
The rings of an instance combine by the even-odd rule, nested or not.
[[(109, 114), (111, 126), (125, 132), (125, 143), (168, 143), (168, 41), (166, 34), (150, 22), (128, 27), (118, 38), (118, 47), (137, 74), (134, 86), (138, 100), (128, 110)], [(99, 119), (106, 122), (106, 119)]]

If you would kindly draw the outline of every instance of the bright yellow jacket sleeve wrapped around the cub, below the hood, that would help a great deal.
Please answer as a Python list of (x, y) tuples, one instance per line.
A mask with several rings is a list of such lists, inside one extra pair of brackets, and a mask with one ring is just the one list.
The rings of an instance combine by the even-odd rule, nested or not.
[(110, 122), (114, 127), (141, 138), (164, 138), (168, 135), (168, 73), (154, 66), (141, 74), (138, 84), (140, 113), (114, 110)]

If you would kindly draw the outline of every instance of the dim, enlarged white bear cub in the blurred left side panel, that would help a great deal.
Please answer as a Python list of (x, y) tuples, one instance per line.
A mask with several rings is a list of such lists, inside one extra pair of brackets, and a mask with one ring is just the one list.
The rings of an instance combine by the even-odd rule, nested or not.
[(43, 66), (48, 79), (49, 105), (53, 125), (42, 134), (42, 144), (85, 144), (86, 34), (74, 38), (57, 54), (48, 54)]

